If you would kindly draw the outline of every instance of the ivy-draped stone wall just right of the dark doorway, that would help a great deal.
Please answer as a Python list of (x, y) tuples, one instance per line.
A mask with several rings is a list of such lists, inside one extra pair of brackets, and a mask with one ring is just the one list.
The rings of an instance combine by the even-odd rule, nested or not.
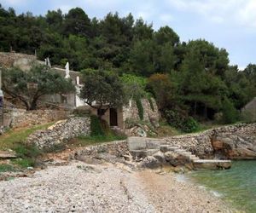
[[(148, 99), (142, 99), (143, 120), (148, 121), (150, 123), (158, 124), (159, 118), (160, 118), (158, 107), (156, 105), (155, 100), (153, 98), (151, 100), (153, 102), (154, 110), (152, 110), (152, 108), (150, 107), (150, 103)], [(133, 119), (133, 120), (140, 119), (138, 115), (136, 101), (131, 101), (130, 105), (123, 107), (123, 119), (124, 121), (126, 119)]]

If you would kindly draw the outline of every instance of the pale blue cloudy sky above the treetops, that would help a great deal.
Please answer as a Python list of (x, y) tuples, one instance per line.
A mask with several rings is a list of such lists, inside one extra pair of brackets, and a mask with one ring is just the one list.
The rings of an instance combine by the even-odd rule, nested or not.
[(80, 7), (90, 18), (108, 12), (133, 14), (153, 23), (154, 30), (170, 26), (182, 41), (205, 38), (230, 53), (230, 64), (256, 64), (256, 0), (1, 0), (17, 14), (46, 14), (48, 10)]

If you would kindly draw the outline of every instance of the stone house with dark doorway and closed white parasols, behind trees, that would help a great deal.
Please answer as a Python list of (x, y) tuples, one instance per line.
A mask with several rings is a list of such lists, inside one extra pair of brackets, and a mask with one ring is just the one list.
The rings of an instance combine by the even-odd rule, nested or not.
[[(49, 65), (49, 59), (45, 61), (36, 60), (36, 57), (33, 55), (22, 55), (16, 53), (0, 53), (0, 64), (4, 66), (19, 66), (23, 70), (28, 70), (31, 67), (32, 62), (36, 61), (39, 64)], [(67, 95), (44, 95), (40, 100), (42, 103), (58, 105), (66, 107), (69, 109), (74, 109), (77, 107), (88, 107), (93, 114), (99, 114), (95, 108), (91, 108), (85, 102), (79, 98), (80, 89), (83, 87), (83, 82), (81, 80), (80, 72), (75, 72), (69, 70), (69, 65), (67, 63), (65, 69), (59, 67), (51, 67), (53, 71), (58, 72), (64, 78), (70, 78), (72, 83), (76, 88), (76, 93), (70, 93)], [(94, 103), (96, 105), (96, 103)], [(159, 112), (158, 107), (154, 101), (151, 99), (142, 100), (143, 105), (143, 120), (148, 121), (151, 124), (158, 124), (159, 121)], [(128, 120), (137, 121), (140, 120), (139, 113), (137, 109), (136, 101), (129, 101), (127, 106), (119, 108), (110, 108), (102, 116), (104, 120), (108, 122), (110, 126), (118, 127), (119, 129), (125, 129), (125, 123)]]

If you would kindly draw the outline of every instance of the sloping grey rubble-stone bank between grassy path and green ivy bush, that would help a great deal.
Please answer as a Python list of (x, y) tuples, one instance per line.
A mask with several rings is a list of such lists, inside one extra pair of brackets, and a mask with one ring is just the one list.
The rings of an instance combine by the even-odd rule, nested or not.
[(90, 135), (90, 118), (74, 117), (61, 120), (47, 130), (38, 130), (27, 139), (39, 149), (49, 149), (79, 135)]

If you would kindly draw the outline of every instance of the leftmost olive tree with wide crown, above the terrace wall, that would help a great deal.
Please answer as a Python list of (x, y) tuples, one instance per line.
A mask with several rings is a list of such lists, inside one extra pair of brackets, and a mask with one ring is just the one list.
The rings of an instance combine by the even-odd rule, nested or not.
[(44, 95), (75, 91), (73, 83), (47, 66), (32, 66), (29, 72), (19, 68), (3, 70), (3, 91), (21, 101), (26, 110), (35, 110)]

